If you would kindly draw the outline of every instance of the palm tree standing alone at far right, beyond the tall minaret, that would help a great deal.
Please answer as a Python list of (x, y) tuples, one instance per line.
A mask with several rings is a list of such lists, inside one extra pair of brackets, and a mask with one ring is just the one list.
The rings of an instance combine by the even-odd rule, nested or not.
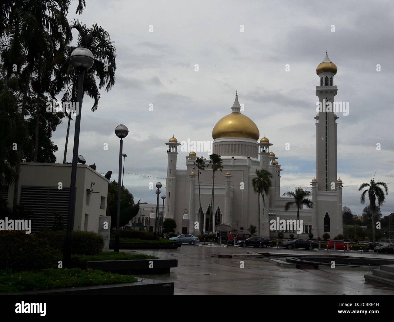
[(372, 237), (374, 239), (374, 242), (376, 241), (376, 226), (375, 226), (375, 212), (376, 212), (376, 200), (377, 200), (377, 205), (381, 206), (383, 204), (383, 202), (385, 202), (385, 193), (383, 192), (383, 189), (379, 186), (382, 186), (385, 189), (386, 195), (388, 194), (388, 187), (387, 184), (382, 182), (382, 181), (378, 181), (375, 182), (374, 179), (371, 180), (370, 183), (362, 183), (360, 185), (359, 191), (361, 191), (362, 189), (368, 187), (369, 189), (364, 190), (361, 194), (360, 197), (360, 202), (361, 204), (365, 203), (365, 195), (368, 192), (368, 199), (370, 202), (370, 210), (372, 213)]

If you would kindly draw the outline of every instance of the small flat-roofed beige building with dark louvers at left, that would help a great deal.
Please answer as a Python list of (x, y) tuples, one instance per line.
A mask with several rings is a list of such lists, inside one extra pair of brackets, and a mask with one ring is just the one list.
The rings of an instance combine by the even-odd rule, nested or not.
[[(18, 203), (32, 211), (32, 231), (52, 228), (55, 212), (67, 223), (71, 164), (22, 162)], [(78, 165), (74, 230), (99, 233), (100, 217), (106, 217), (108, 179), (88, 167)], [(12, 207), (14, 185), (3, 186), (1, 195)], [(101, 218), (103, 219), (103, 218)]]

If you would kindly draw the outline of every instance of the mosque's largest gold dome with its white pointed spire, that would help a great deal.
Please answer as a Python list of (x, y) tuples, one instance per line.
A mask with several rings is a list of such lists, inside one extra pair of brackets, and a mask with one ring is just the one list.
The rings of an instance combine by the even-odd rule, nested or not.
[(212, 138), (221, 137), (245, 137), (248, 139), (258, 140), (260, 132), (249, 117), (241, 114), (241, 105), (238, 102), (238, 92), (235, 96), (234, 104), (232, 104), (232, 112), (222, 117), (212, 130)]

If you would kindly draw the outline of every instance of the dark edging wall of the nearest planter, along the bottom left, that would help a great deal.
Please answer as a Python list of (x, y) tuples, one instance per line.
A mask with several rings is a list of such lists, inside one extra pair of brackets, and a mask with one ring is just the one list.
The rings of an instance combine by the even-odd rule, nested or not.
[(136, 283), (0, 293), (0, 295), (174, 295), (174, 283), (156, 283), (153, 279), (144, 279)]

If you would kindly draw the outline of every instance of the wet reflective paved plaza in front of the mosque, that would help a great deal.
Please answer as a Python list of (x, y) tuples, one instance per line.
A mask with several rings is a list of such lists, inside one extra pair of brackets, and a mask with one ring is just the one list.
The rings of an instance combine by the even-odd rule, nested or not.
[[(231, 295), (231, 294), (352, 294), (352, 295), (393, 295), (394, 289), (366, 283), (364, 274), (371, 269), (361, 268), (284, 268), (275, 265), (267, 257), (258, 258), (242, 254), (260, 252), (289, 253), (297, 255), (343, 255), (343, 251), (289, 251), (276, 248), (225, 248), (182, 245), (177, 250), (121, 250), (130, 254), (149, 254), (162, 259), (178, 259), (178, 267), (171, 268), (169, 274), (136, 275), (139, 278), (174, 282), (175, 295)], [(351, 255), (353, 256), (351, 252)], [(232, 254), (233, 258), (212, 257), (211, 254)], [(275, 259), (284, 261), (284, 257)], [(345, 255), (349, 255), (346, 252)], [(359, 255), (359, 252), (354, 255)], [(394, 258), (393, 254), (364, 253), (361, 256)], [(271, 257), (272, 258), (272, 257)], [(243, 262), (243, 263), (242, 263)], [(243, 265), (242, 265), (243, 264)], [(243, 266), (243, 268), (242, 268)]]

